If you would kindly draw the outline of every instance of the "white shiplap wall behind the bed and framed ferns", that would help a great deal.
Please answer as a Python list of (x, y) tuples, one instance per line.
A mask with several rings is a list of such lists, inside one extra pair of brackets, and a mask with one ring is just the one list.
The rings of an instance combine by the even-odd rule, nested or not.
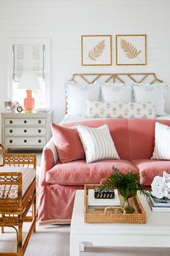
[[(72, 73), (156, 72), (170, 82), (169, 0), (0, 0), (0, 110), (7, 99), (7, 39), (51, 39), (51, 107), (64, 115), (64, 81)], [(81, 35), (113, 37), (113, 65), (81, 66)], [(116, 34), (146, 34), (148, 65), (116, 66)], [(170, 99), (170, 95), (169, 95)], [(169, 106), (166, 108), (170, 112)]]

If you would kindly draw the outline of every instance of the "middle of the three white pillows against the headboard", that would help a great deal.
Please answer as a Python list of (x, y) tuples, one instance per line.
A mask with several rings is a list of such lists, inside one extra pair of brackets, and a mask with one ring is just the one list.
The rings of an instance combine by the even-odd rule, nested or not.
[(103, 83), (101, 98), (104, 102), (132, 102), (132, 83)]

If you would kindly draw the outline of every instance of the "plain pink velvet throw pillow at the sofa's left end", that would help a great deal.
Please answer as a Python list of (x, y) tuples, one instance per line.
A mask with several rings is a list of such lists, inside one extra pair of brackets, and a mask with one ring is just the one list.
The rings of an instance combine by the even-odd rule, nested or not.
[(59, 160), (62, 163), (85, 158), (85, 152), (77, 130), (64, 128), (55, 123), (51, 124), (54, 136), (54, 144), (59, 152)]

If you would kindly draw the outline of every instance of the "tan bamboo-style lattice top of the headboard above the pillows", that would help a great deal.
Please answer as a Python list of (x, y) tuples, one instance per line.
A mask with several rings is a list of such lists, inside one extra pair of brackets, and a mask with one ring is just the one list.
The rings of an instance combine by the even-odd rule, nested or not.
[(90, 84), (96, 80), (102, 80), (102, 78), (104, 78), (103, 82), (105, 83), (126, 83), (127, 81), (150, 84), (163, 83), (163, 80), (158, 79), (155, 73), (75, 73), (72, 75), (71, 81), (80, 83), (80, 80), (83, 80)]

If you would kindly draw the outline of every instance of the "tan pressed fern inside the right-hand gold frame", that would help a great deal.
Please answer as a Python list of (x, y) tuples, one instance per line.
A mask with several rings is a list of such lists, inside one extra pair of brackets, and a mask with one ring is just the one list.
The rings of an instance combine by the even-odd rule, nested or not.
[(137, 51), (135, 46), (130, 44), (128, 41), (123, 40), (122, 38), (121, 38), (121, 48), (125, 52), (125, 54), (127, 55), (127, 58), (129, 58), (129, 59), (136, 58), (141, 52), (141, 50)]

